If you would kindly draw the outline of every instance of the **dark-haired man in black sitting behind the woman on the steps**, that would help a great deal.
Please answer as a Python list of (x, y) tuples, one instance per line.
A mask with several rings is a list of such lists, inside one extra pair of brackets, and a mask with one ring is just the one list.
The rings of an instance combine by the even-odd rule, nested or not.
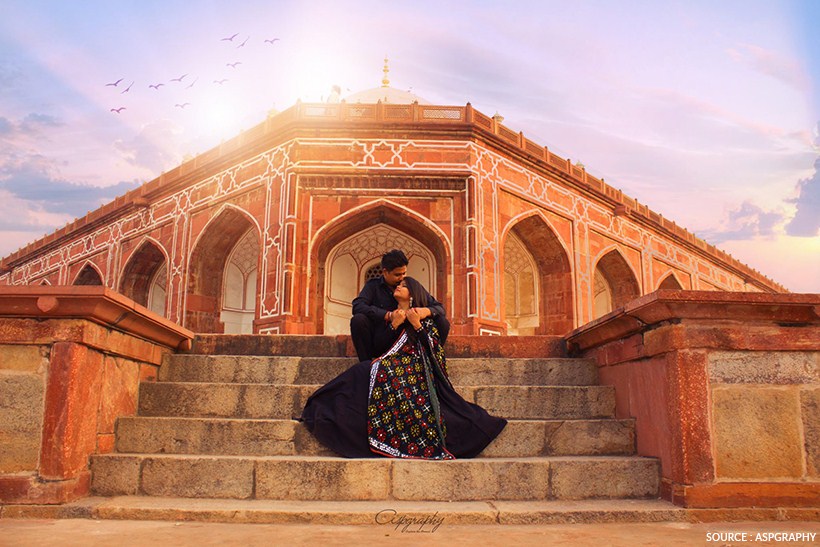
[[(353, 300), (353, 318), (350, 320), (350, 336), (359, 361), (370, 361), (390, 348), (397, 333), (391, 329), (392, 312), (398, 307), (393, 291), (407, 275), (409, 261), (402, 251), (393, 249), (382, 256), (382, 275), (364, 284)], [(450, 332), (450, 322), (444, 306), (427, 294), (427, 307), (418, 308), (424, 317), (432, 316), (439, 331), (441, 342)], [(426, 310), (426, 311), (425, 311)]]

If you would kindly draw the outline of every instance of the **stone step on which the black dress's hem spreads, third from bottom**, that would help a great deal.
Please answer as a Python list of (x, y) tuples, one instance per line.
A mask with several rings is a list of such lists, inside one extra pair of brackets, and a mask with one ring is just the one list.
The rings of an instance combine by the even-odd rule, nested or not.
[[(630, 455), (633, 420), (511, 420), (484, 458)], [(120, 453), (229, 456), (332, 456), (293, 420), (126, 417), (117, 421)]]

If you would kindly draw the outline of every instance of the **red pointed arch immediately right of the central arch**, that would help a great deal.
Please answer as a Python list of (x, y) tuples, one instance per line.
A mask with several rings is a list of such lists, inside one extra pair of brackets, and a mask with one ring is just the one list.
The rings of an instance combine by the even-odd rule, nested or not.
[[(511, 234), (532, 256), (537, 270), (538, 324), (533, 334), (566, 334), (575, 323), (572, 267), (568, 251), (540, 211), (529, 211), (513, 218), (502, 235), (502, 248), (507, 247)], [(505, 276), (505, 284), (508, 281), (512, 282), (512, 279)], [(505, 285), (505, 293), (508, 290)]]

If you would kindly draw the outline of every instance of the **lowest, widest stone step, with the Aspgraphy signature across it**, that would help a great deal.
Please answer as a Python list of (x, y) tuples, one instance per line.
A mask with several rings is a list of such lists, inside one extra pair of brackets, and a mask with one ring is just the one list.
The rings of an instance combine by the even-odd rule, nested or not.
[[(703, 511), (703, 510), (702, 510)], [(721, 509), (723, 515), (727, 509)], [(64, 505), (8, 506), (7, 518), (93, 518), (236, 524), (381, 525), (433, 533), (455, 525), (687, 522), (691, 510), (645, 499), (577, 501), (288, 501), (152, 496), (89, 497)], [(725, 517), (724, 517), (725, 518)], [(406, 526), (406, 527), (405, 527)], [(488, 530), (492, 532), (491, 530)], [(503, 533), (503, 529), (499, 529)]]

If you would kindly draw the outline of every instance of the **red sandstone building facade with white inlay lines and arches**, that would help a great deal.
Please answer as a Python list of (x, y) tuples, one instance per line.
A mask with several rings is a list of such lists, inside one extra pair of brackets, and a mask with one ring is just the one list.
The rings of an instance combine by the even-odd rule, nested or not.
[[(18, 250), (0, 285), (102, 284), (218, 333), (233, 275), (252, 285), (237, 304), (252, 321), (235, 332), (332, 333), (330, 285), (344, 276), (329, 259), (374, 227), (386, 248), (345, 257), (358, 279), (339, 289), (340, 316), (366, 263), (403, 242), (456, 334), (512, 333), (512, 298), (531, 308), (517, 332), (564, 335), (658, 288), (785, 292), (469, 104), (344, 102), (296, 104)], [(230, 274), (240, 243), (255, 263)]]

